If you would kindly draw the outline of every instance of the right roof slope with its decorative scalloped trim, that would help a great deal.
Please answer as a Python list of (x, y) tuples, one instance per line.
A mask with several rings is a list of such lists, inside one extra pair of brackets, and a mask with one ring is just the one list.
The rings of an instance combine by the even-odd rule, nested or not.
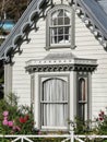
[(95, 0), (74, 0), (78, 15), (107, 49), (107, 14)]

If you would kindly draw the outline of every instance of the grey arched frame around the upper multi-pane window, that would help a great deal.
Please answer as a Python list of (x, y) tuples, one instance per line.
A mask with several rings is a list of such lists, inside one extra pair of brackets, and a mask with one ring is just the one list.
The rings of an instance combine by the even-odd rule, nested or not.
[[(59, 9), (63, 9), (63, 10), (67, 10), (71, 13), (71, 43), (69, 44), (55, 44), (55, 45), (51, 45), (50, 44), (50, 23), (51, 23), (51, 14), (54, 12), (56, 12), (57, 10)], [(71, 48), (71, 49), (74, 49), (75, 48), (75, 14), (74, 14), (74, 9), (72, 7), (69, 7), (69, 5), (64, 5), (64, 4), (59, 4), (59, 5), (56, 5), (52, 9), (50, 9), (48, 12), (47, 12), (47, 19), (46, 19), (46, 50), (49, 50), (49, 49), (59, 49), (59, 48)]]

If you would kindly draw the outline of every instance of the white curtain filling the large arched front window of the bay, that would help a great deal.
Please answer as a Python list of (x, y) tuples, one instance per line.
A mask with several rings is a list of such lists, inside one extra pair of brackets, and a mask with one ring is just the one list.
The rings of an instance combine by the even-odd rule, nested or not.
[(43, 126), (66, 127), (68, 119), (67, 82), (61, 79), (47, 80), (43, 88)]

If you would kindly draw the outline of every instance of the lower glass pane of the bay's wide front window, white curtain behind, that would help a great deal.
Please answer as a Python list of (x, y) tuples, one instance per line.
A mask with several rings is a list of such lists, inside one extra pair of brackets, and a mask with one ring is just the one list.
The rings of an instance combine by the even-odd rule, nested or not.
[(43, 104), (43, 126), (64, 127), (68, 125), (67, 104)]

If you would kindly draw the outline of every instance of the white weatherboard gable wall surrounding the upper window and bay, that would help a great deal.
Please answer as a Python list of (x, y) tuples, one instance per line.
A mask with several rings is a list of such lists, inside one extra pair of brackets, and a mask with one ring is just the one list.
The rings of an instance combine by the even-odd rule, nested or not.
[[(22, 55), (16, 54), (13, 58), (13, 90), (21, 104), (31, 103), (31, 75), (25, 71), (26, 61), (40, 59), (50, 52), (72, 52), (76, 57), (97, 59), (98, 67), (92, 74), (92, 116), (94, 117), (107, 105), (107, 52), (95, 39), (90, 29), (75, 16), (75, 49), (61, 48), (45, 50), (46, 46), (46, 21), (40, 19), (39, 29), (29, 33), (31, 42), (23, 43)], [(36, 81), (35, 81), (36, 82)]]

